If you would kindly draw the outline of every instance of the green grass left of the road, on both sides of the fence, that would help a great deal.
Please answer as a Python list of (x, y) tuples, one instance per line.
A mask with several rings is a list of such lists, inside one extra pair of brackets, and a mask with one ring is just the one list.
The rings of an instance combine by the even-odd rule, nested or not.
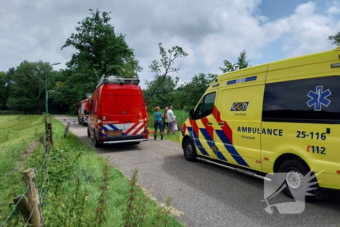
[[(0, 116), (0, 129), (6, 132), (0, 134), (0, 225), (13, 209), (12, 198), (25, 189), (22, 171), (39, 169), (44, 160), (40, 143), (44, 132), (43, 120), (41, 115)], [(39, 193), (44, 198), (41, 207), (44, 225), (94, 226), (96, 210), (100, 208), (104, 214), (98, 218), (103, 221), (101, 226), (124, 226), (123, 216), (131, 195), (129, 179), (112, 166), (107, 166), (104, 178), (105, 162), (102, 157), (71, 132), (64, 140), (65, 126), (54, 118), (52, 128), (54, 146), (48, 156), (48, 164), (36, 175)], [(107, 180), (107, 191), (101, 193), (103, 179)], [(138, 216), (136, 210), (142, 208), (145, 208), (143, 226), (154, 226), (158, 219), (165, 221), (165, 211), (155, 201), (146, 201), (146, 195), (138, 186), (133, 191), (135, 208), (130, 213), (132, 222), (139, 222), (140, 213)], [(98, 205), (101, 194), (106, 201), (104, 206)], [(169, 227), (183, 226), (172, 215), (168, 216), (167, 222)], [(4, 226), (21, 227), (23, 224), (20, 214), (15, 211)]]

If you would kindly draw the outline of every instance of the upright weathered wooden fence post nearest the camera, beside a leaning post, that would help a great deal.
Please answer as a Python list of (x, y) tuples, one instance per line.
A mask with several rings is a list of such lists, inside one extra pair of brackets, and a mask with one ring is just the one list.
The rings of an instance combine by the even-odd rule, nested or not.
[[(28, 169), (23, 172), (25, 185), (28, 188), (27, 197), (30, 213), (32, 213), (31, 220), (34, 227), (41, 226), (41, 208), (39, 202), (39, 193), (36, 187), (34, 176), (34, 169)], [(31, 180), (32, 179), (32, 180)], [(31, 181), (30, 181), (31, 180)]]

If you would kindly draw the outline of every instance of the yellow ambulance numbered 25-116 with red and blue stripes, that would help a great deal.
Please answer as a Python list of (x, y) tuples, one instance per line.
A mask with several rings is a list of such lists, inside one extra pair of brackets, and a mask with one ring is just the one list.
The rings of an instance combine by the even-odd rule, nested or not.
[(310, 170), (321, 172), (317, 198), (339, 190), (340, 47), (215, 77), (190, 109), (180, 144), (188, 161), (265, 180), (261, 172), (286, 173), (290, 197)]

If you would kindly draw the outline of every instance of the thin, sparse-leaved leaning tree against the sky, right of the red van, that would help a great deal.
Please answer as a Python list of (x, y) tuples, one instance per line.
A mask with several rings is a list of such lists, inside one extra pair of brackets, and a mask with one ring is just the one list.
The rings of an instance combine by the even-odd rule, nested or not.
[[(145, 81), (147, 85), (147, 89), (150, 90), (150, 95), (145, 102), (145, 105), (148, 105), (150, 100), (153, 98), (158, 91), (158, 88), (162, 86), (162, 84), (166, 81), (167, 77), (171, 72), (178, 72), (182, 66), (182, 62), (180, 61), (177, 66), (173, 66), (175, 60), (178, 57), (186, 57), (188, 54), (183, 51), (182, 47), (175, 46), (168, 50), (168, 53), (165, 51), (164, 47), (162, 47), (162, 43), (158, 44), (159, 54), (161, 55), (160, 61), (154, 59), (149, 66), (151, 71), (154, 73), (153, 81), (148, 82)], [(177, 79), (176, 79), (177, 80)], [(172, 87), (173, 88), (173, 87)]]

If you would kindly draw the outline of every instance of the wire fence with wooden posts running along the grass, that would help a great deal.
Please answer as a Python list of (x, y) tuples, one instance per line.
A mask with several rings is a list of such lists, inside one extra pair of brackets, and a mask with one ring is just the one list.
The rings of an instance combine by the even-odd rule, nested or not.
[[(52, 140), (52, 123), (49, 121), (49, 118), (45, 117), (45, 136), (43, 137), (44, 143), (44, 160), (42, 161), (39, 169), (27, 169), (23, 171), (24, 181), (25, 181), (25, 191), (13, 198), (14, 200), (14, 208), (11, 210), (5, 221), (0, 225), (0, 227), (4, 227), (5, 224), (10, 220), (10, 217), (14, 213), (15, 210), (18, 210), (23, 218), (26, 221), (24, 227), (27, 224), (32, 224), (34, 227), (43, 227), (43, 223), (45, 217), (42, 217), (41, 212), (41, 204), (44, 200), (43, 196), (43, 188), (46, 180), (49, 176), (49, 169), (48, 169), (48, 156), (50, 153), (50, 148), (53, 145)], [(40, 195), (38, 193), (37, 185), (35, 182), (35, 176), (37, 173), (43, 171), (44, 166), (46, 166), (46, 175), (43, 180), (42, 186), (40, 188)], [(25, 194), (27, 193), (28, 199), (26, 198)], [(40, 197), (40, 201), (39, 201)]]

